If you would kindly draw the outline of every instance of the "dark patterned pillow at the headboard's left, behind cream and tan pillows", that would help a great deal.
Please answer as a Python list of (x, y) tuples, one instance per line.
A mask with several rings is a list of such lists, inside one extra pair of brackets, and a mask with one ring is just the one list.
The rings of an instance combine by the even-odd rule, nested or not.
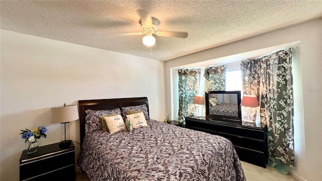
[(95, 130), (101, 130), (102, 126), (101, 126), (101, 121), (100, 121), (100, 116), (103, 115), (109, 115), (109, 114), (117, 114), (120, 115), (121, 114), (121, 110), (120, 108), (115, 108), (112, 110), (86, 110), (85, 112), (87, 112), (86, 115), (86, 122), (85, 122), (85, 132), (86, 133), (90, 133), (93, 132)]

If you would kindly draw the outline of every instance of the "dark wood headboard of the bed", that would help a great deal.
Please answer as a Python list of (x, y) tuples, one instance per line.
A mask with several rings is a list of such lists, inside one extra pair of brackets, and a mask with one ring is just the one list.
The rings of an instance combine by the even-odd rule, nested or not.
[(103, 99), (103, 100), (81, 100), (78, 101), (79, 110), (79, 132), (81, 133), (81, 145), (85, 137), (85, 117), (86, 110), (110, 110), (127, 106), (139, 106), (146, 104), (149, 110), (147, 98), (122, 98), (122, 99)]

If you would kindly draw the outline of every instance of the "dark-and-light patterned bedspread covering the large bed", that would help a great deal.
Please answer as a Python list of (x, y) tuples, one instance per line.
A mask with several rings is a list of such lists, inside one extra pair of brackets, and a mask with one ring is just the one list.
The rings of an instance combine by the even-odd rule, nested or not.
[(132, 132), (87, 134), (78, 165), (90, 180), (246, 180), (223, 137), (147, 120)]

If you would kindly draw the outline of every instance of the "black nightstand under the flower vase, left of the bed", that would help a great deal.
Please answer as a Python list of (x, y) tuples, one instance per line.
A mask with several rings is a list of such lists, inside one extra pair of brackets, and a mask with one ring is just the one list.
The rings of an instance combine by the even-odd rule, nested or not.
[(75, 180), (75, 146), (61, 149), (58, 143), (26, 150), (20, 157), (20, 180)]

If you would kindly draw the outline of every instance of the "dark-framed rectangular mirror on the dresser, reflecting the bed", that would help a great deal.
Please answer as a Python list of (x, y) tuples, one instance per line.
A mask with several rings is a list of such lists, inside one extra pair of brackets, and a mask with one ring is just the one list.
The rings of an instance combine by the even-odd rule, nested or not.
[(240, 91), (205, 92), (209, 120), (241, 124)]

